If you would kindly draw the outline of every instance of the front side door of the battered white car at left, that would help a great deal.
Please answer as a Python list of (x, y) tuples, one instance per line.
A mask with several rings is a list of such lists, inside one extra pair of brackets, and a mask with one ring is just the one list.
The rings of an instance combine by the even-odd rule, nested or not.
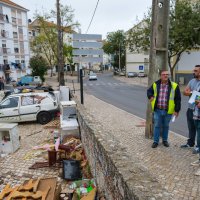
[(0, 104), (1, 122), (20, 122), (19, 97), (8, 97)]

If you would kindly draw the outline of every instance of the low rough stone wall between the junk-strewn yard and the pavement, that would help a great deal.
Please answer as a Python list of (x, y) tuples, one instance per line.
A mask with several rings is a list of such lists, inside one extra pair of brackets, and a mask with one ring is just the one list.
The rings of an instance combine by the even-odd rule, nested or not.
[(173, 199), (145, 166), (137, 159), (129, 158), (123, 144), (111, 136), (114, 134), (104, 132), (94, 116), (78, 100), (76, 102), (81, 139), (98, 189), (106, 199)]

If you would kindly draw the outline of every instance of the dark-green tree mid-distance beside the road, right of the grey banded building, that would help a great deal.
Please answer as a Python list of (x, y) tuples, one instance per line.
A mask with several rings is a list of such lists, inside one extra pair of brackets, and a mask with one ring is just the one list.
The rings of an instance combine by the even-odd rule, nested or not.
[(114, 54), (114, 67), (121, 69), (121, 67), (125, 66), (125, 49), (126, 39), (124, 31), (118, 30), (108, 33), (103, 50), (107, 54)]

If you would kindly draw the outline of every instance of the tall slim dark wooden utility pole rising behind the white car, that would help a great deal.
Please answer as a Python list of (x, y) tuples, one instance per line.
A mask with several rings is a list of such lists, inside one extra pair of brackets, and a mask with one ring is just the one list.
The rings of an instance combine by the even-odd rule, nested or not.
[(59, 85), (65, 85), (64, 79), (64, 58), (63, 58), (63, 31), (61, 26), (61, 17), (60, 17), (60, 2), (56, 0), (57, 7), (57, 29), (58, 29), (58, 81)]

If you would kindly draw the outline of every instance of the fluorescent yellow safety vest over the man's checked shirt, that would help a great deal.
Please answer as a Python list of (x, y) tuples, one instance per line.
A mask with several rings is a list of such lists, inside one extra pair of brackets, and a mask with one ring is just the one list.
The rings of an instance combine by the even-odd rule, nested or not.
[[(169, 101), (168, 101), (168, 112), (167, 112), (168, 114), (174, 113), (174, 108), (175, 108), (174, 96), (175, 96), (175, 90), (176, 90), (176, 87), (178, 86), (178, 84), (171, 82), (171, 85), (172, 85), (172, 87), (171, 87), (171, 91), (170, 91), (170, 95), (169, 95)], [(154, 99), (151, 102), (151, 107), (152, 107), (152, 110), (154, 111), (156, 98), (157, 98), (157, 95), (158, 95), (156, 83), (153, 84), (153, 91), (154, 91)]]

